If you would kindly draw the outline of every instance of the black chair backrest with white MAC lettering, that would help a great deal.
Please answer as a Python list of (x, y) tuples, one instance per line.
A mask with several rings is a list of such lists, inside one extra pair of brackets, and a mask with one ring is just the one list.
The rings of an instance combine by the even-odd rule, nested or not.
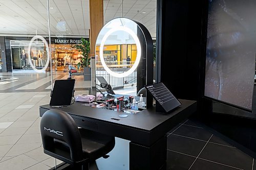
[(41, 118), (40, 130), (45, 150), (54, 152), (54, 139), (58, 139), (69, 145), (72, 161), (83, 159), (80, 132), (68, 113), (55, 109), (46, 111)]

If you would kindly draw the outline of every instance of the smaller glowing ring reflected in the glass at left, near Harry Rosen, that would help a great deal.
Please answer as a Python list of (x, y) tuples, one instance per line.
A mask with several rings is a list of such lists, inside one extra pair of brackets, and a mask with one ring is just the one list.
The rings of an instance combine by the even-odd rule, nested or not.
[[(35, 39), (40, 39), (40, 40), (42, 40), (42, 41), (46, 44), (47, 61), (46, 61), (46, 64), (45, 64), (44, 68), (42, 68), (42, 69), (37, 69), (37, 68), (33, 65), (32, 61), (31, 61), (30, 50), (31, 50), (31, 45), (32, 45), (32, 43), (33, 43), (33, 41), (34, 41)], [(30, 63), (30, 65), (31, 65), (31, 67), (32, 67), (36, 72), (44, 72), (44, 71), (46, 70), (46, 68), (48, 67), (48, 64), (49, 64), (49, 61), (50, 61), (50, 57), (49, 57), (49, 46), (48, 46), (48, 43), (47, 43), (46, 39), (45, 39), (44, 37), (40, 36), (40, 35), (34, 36), (34, 37), (30, 40), (30, 42), (29, 42), (28, 51), (29, 51), (29, 63)]]

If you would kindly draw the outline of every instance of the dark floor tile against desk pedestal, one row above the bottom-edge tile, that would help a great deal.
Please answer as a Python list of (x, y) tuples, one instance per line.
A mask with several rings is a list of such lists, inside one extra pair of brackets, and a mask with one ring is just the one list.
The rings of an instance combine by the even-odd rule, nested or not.
[(181, 152), (191, 156), (198, 156), (206, 142), (181, 137), (177, 135), (169, 135), (167, 137), (167, 149)]

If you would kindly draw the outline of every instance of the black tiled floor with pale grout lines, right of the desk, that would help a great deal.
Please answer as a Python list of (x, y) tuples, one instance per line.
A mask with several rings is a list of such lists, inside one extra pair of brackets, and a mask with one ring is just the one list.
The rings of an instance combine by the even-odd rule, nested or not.
[(167, 137), (167, 169), (254, 169), (254, 159), (186, 120)]

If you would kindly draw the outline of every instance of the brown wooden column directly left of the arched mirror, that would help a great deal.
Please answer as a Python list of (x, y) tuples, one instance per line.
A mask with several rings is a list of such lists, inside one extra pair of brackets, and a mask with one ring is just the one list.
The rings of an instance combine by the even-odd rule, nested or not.
[(104, 24), (103, 0), (89, 0), (90, 7), (90, 42), (91, 42), (91, 70), (92, 87), (95, 87), (95, 44), (97, 36)]

